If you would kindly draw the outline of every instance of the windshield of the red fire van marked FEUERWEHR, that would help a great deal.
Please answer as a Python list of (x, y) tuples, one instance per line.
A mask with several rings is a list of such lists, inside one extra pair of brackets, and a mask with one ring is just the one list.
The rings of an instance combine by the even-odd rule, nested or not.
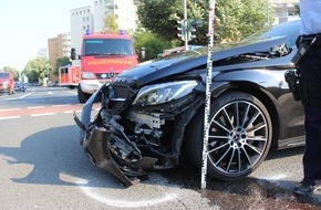
[(131, 40), (95, 39), (84, 40), (84, 56), (90, 55), (134, 55)]

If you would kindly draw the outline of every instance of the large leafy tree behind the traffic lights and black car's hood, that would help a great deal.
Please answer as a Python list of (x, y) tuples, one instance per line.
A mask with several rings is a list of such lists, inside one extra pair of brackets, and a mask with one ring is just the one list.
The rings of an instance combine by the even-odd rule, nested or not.
[[(215, 8), (215, 42), (237, 41), (262, 29), (267, 23), (266, 0), (217, 0)], [(203, 21), (197, 39), (190, 44), (207, 44), (208, 0), (187, 0), (188, 19)], [(184, 18), (182, 0), (139, 0), (138, 19), (143, 28), (166, 40), (175, 40), (176, 21)], [(269, 9), (270, 24), (275, 11)]]

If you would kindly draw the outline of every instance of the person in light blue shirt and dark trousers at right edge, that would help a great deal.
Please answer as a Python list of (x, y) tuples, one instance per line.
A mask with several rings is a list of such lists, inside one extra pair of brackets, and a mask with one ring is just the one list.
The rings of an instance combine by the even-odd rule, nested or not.
[(300, 0), (300, 15), (302, 27), (298, 41), (311, 42), (318, 35), (320, 39), (315, 39), (311, 51), (297, 66), (300, 72), (301, 102), (306, 113), (306, 150), (303, 180), (293, 192), (312, 195), (321, 190), (321, 0)]

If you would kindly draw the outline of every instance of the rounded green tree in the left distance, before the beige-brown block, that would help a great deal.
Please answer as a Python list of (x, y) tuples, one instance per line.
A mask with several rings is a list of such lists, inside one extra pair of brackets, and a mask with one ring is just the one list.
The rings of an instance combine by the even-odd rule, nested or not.
[(23, 73), (29, 82), (39, 82), (50, 74), (51, 69), (48, 59), (37, 57), (27, 63)]

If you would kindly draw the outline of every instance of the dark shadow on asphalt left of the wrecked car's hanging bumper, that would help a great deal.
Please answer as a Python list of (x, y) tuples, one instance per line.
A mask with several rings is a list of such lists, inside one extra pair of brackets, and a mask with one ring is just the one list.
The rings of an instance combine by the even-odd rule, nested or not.
[(20, 147), (0, 147), (0, 155), (9, 165), (33, 167), (24, 177), (12, 177), (11, 180), (20, 183), (125, 188), (90, 161), (79, 144), (77, 134), (76, 126), (54, 127), (27, 137)]

